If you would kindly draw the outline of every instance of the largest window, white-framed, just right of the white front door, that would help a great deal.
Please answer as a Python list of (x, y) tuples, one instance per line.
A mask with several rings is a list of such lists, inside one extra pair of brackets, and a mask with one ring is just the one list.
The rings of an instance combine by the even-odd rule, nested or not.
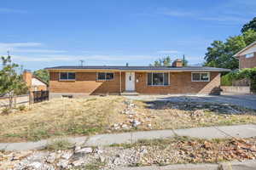
[(169, 73), (148, 73), (148, 86), (168, 86)]

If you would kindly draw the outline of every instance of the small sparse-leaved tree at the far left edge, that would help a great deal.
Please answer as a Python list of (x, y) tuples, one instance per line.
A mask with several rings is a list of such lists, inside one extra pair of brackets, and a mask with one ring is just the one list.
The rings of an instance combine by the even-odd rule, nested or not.
[(19, 65), (12, 63), (10, 56), (1, 59), (3, 69), (0, 71), (0, 94), (8, 95), (9, 108), (12, 108), (15, 95), (25, 94), (28, 88), (21, 75), (16, 72)]

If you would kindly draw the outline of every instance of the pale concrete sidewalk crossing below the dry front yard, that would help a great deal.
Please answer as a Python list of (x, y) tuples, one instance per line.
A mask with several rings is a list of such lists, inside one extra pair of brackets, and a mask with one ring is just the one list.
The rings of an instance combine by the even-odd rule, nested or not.
[[(99, 134), (90, 137), (69, 137), (67, 140), (74, 144), (88, 146), (134, 143), (139, 139), (162, 139), (174, 136), (189, 136), (201, 139), (250, 138), (256, 136), (256, 125), (236, 125), (224, 127), (195, 127), (174, 130), (153, 130), (132, 133)], [(26, 143), (2, 143), (0, 150), (35, 150), (42, 149), (53, 139)]]

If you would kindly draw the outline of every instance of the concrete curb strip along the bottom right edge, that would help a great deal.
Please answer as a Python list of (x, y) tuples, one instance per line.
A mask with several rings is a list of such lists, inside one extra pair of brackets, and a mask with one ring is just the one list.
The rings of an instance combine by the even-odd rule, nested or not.
[(230, 161), (221, 164), (180, 164), (163, 167), (123, 167), (118, 170), (255, 170), (256, 161)]

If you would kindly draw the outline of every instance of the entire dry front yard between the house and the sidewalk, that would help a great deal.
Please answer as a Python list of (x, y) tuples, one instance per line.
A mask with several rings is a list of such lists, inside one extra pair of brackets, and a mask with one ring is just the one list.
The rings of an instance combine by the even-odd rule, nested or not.
[(0, 142), (255, 123), (256, 111), (235, 105), (141, 101), (120, 96), (52, 99), (0, 115)]

